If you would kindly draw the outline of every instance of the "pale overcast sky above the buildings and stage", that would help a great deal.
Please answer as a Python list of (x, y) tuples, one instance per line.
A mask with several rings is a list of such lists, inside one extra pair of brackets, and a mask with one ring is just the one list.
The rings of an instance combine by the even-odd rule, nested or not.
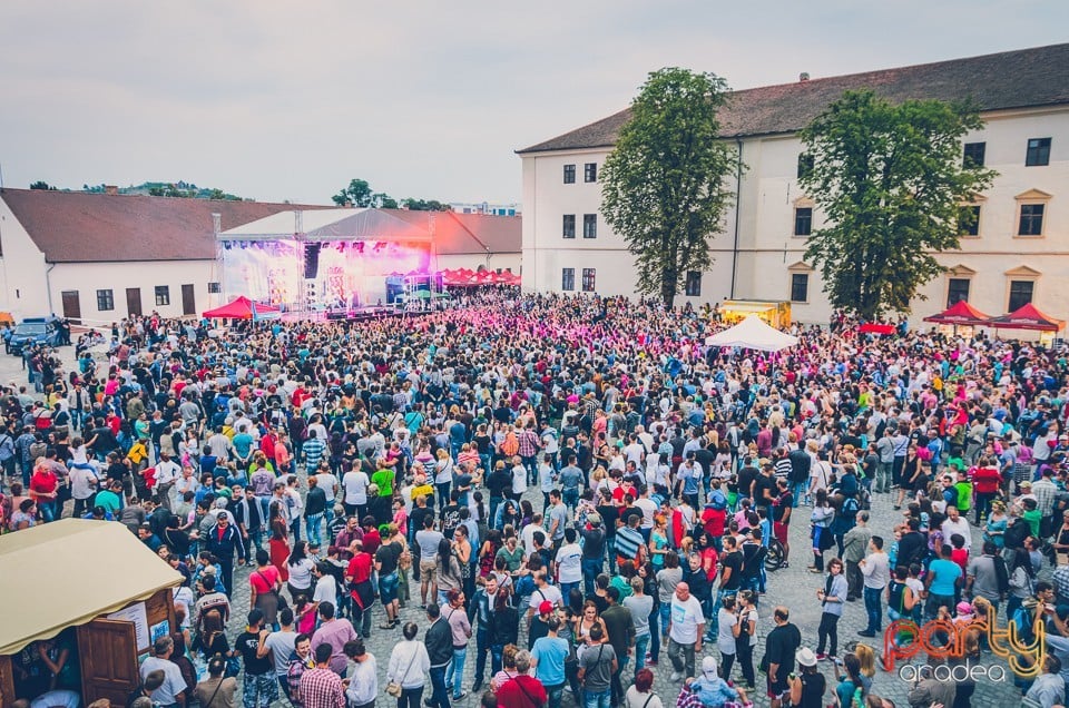
[(626, 108), (663, 67), (735, 89), (1067, 41), (1065, 0), (16, 0), (7, 187), (185, 180), (330, 204), (519, 201), (514, 150)]

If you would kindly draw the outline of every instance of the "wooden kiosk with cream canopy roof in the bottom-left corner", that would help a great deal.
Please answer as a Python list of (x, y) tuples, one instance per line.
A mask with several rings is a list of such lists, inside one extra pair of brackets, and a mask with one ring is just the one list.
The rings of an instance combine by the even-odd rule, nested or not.
[(138, 661), (176, 631), (182, 574), (121, 523), (65, 519), (0, 537), (0, 706), (16, 699), (13, 660), (76, 628), (82, 705), (126, 705)]

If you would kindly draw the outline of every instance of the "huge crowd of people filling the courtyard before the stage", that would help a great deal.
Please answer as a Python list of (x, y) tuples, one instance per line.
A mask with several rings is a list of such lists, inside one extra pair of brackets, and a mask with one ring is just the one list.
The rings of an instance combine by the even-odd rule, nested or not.
[[(361, 323), (134, 317), (107, 361), (28, 351), (40, 390), (3, 399), (2, 523), (124, 523), (182, 573), (180, 631), (131, 705), (882, 708), (903, 619), (965, 638), (947, 667), (929, 652), (910, 705), (970, 705), (974, 682), (939, 669), (989, 652), (978, 620), (1043, 642), (1017, 682), (1061, 705), (1065, 355), (843, 321), (761, 355), (707, 346), (720, 326), (492, 294)], [(870, 528), (874, 502), (901, 514), (892, 533)], [(772, 588), (792, 562), (821, 576), (815, 633)], [(857, 601), (866, 627), (841, 642)], [(26, 697), (76, 690), (40, 649)]]

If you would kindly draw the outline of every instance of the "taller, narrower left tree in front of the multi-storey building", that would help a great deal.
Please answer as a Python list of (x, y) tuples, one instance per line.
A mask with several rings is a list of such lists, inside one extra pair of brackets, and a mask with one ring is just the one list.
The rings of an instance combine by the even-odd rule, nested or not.
[(719, 138), (724, 79), (668, 68), (649, 75), (601, 171), (601, 214), (638, 266), (636, 289), (670, 307), (688, 271), (713, 264), (712, 240), (742, 163)]

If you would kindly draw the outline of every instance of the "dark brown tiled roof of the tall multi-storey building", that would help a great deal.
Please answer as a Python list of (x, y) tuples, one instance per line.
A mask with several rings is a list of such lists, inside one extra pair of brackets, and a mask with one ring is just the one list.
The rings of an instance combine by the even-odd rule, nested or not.
[[(1069, 43), (746, 89), (720, 110), (720, 135), (796, 132), (843, 91), (861, 88), (892, 101), (971, 98), (981, 111), (1067, 105), (1067, 67)], [(517, 153), (612, 147), (629, 118), (625, 109)]]

